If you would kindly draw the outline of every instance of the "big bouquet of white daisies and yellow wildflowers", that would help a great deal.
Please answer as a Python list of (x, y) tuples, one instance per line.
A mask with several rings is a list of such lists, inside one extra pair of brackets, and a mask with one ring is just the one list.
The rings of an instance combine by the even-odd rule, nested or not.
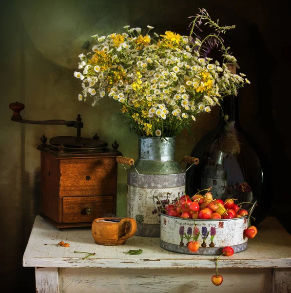
[[(190, 18), (189, 36), (151, 35), (152, 26), (142, 35), (128, 25), (122, 34), (92, 36), (97, 44), (92, 53), (79, 55), (82, 72), (74, 74), (82, 81), (78, 99), (91, 96), (96, 105), (105, 95), (112, 97), (138, 135), (166, 137), (220, 105), (224, 96), (236, 95), (249, 81), (228, 69), (237, 63), (220, 37), (234, 26), (219, 26), (205, 9)], [(214, 28), (204, 39), (194, 33), (201, 33), (202, 24)], [(221, 51), (221, 64), (207, 57), (213, 49)]]

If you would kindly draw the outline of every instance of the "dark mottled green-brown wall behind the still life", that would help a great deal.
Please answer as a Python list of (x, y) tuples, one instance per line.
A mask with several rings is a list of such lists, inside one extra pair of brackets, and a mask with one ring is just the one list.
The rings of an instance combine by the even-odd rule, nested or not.
[[(0, 47), (0, 204), (1, 276), (8, 292), (28, 288), (34, 292), (34, 270), (21, 268), (22, 255), (35, 216), (39, 212), (40, 153), (36, 149), (44, 133), (48, 138), (75, 135), (65, 126), (21, 125), (10, 121), (8, 105), (25, 104), (23, 117), (32, 120), (74, 120), (80, 113), (83, 136), (96, 132), (109, 144), (117, 140), (120, 151), (137, 158), (137, 136), (123, 123), (112, 100), (104, 98), (97, 107), (78, 102), (80, 83), (73, 73), (78, 54), (93, 34), (107, 35), (126, 24), (153, 25), (156, 31), (174, 30), (187, 34), (188, 16), (204, 7), (213, 19), (237, 28), (226, 36), (233, 53), (248, 75), (251, 85), (240, 94), (242, 126), (263, 148), (275, 170), (277, 196), (281, 180), (290, 166), (288, 124), (288, 84), (290, 62), (289, 6), (284, 0), (19, 0), (1, 2)], [(284, 58), (284, 59), (283, 59)], [(196, 141), (213, 129), (218, 109), (199, 117), (191, 130)], [(189, 155), (195, 142), (185, 130), (177, 136), (176, 158)], [(280, 176), (280, 177), (279, 177)], [(126, 173), (118, 169), (117, 215), (126, 215)], [(281, 191), (280, 191), (281, 192)], [(285, 196), (285, 197), (284, 197)], [(275, 197), (277, 198), (277, 197)], [(287, 200), (285, 194), (283, 199)], [(288, 226), (287, 213), (275, 199), (271, 213)], [(1, 285), (0, 285), (1, 286)]]

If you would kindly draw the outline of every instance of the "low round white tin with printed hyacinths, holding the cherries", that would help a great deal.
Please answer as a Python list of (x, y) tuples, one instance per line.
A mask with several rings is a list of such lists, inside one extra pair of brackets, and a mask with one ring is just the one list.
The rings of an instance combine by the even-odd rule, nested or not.
[[(160, 201), (158, 197), (153, 196), (155, 206), (156, 200)], [(255, 203), (250, 214), (254, 206)], [(218, 255), (226, 246), (231, 246), (234, 252), (240, 252), (248, 248), (248, 238), (244, 233), (248, 226), (249, 216), (220, 220), (194, 220), (160, 213), (160, 247), (168, 251), (198, 255)], [(191, 252), (187, 248), (187, 243), (193, 241), (194, 233), (197, 235), (198, 231), (200, 232), (197, 239), (199, 249)]]

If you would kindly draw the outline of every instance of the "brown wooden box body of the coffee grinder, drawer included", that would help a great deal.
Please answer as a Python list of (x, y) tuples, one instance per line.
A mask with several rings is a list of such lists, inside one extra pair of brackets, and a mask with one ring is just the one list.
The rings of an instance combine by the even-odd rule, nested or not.
[(91, 226), (94, 219), (116, 214), (117, 163), (121, 155), (41, 151), (40, 215), (58, 228)]

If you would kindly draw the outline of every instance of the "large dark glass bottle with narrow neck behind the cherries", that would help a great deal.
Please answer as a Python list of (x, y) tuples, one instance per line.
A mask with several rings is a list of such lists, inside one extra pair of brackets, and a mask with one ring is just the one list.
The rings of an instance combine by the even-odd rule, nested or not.
[[(194, 147), (191, 156), (200, 164), (186, 174), (186, 192), (213, 187), (213, 198), (237, 198), (238, 202), (257, 200), (252, 216), (254, 225), (262, 222), (271, 207), (272, 166), (264, 152), (245, 132), (238, 119), (238, 97), (228, 96), (221, 103), (227, 121), (221, 116), (215, 129), (207, 133)], [(248, 188), (235, 186), (247, 183)], [(238, 189), (238, 190), (237, 190)], [(250, 205), (244, 205), (250, 208)]]

